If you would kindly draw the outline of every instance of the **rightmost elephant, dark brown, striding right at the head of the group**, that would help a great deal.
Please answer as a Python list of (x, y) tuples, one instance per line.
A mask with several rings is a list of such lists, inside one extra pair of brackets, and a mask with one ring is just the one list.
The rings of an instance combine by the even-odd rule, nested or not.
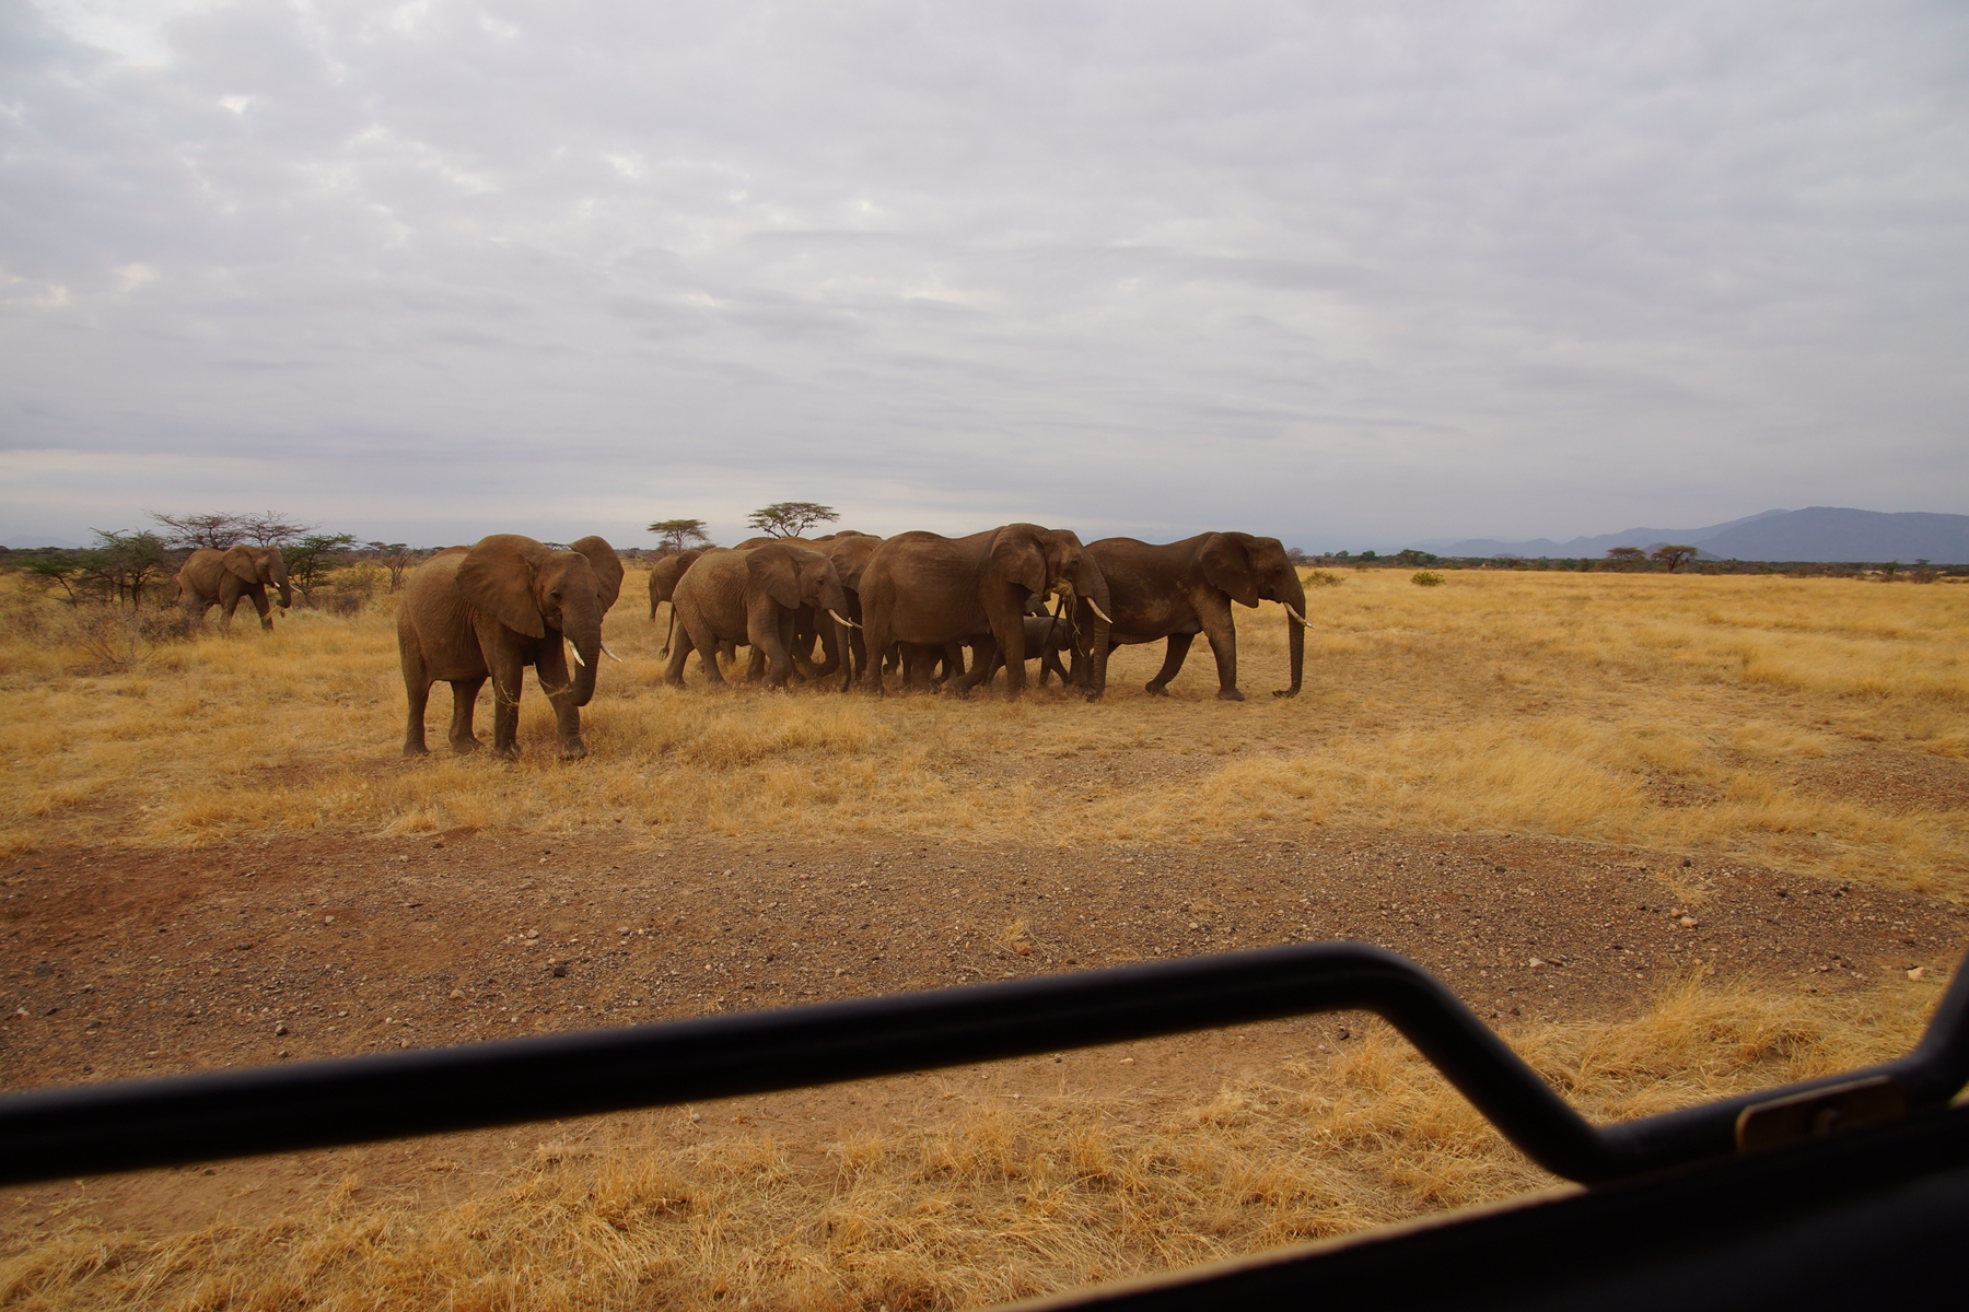
[(1260, 600), (1278, 602), (1288, 616), (1292, 686), (1278, 688), (1272, 696), (1300, 694), (1305, 669), (1305, 584), (1276, 537), (1201, 533), (1160, 547), (1132, 537), (1103, 537), (1089, 543), (1087, 551), (1099, 561), (1114, 598), (1109, 641), (1116, 647), (1170, 641), (1162, 669), (1146, 685), (1150, 694), (1166, 694), (1170, 681), (1183, 669), (1191, 639), (1203, 633), (1217, 657), (1217, 696), (1242, 702), (1231, 602), (1256, 606)]

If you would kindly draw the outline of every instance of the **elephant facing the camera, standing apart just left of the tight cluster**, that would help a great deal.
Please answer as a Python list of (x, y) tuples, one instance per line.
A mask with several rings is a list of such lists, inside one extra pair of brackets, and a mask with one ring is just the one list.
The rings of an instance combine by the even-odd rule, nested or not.
[[(553, 704), (561, 759), (589, 753), (581, 708), (595, 696), (603, 655), (603, 616), (622, 592), (622, 561), (599, 537), (547, 547), (518, 533), (494, 533), (475, 547), (431, 557), (404, 586), (396, 647), (410, 694), (404, 755), (423, 755), (423, 708), (431, 685), (451, 685), (451, 749), (476, 751), (473, 706), (492, 679), (492, 753), (516, 757), (520, 681), (528, 665)], [(575, 673), (567, 673), (573, 643)]]

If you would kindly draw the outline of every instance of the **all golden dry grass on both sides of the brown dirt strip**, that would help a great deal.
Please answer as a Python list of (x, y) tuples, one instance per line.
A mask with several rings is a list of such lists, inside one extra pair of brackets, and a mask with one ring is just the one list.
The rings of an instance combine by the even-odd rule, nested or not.
[[(1969, 891), (1951, 783), (1969, 757), (1969, 588), (1331, 578), (1311, 592), (1305, 694), (1268, 696), (1286, 655), (1266, 606), (1240, 612), (1250, 700), (1229, 706), (1201, 643), (1166, 700), (1140, 686), (1160, 647), (1118, 653), (1099, 704), (713, 694), (695, 659), (675, 692), (658, 683), (662, 633), (632, 572), (608, 620), (628, 665), (603, 671), (585, 712), (593, 755), (553, 759), (530, 686), (516, 765), (398, 757), (386, 600), (280, 616), (274, 635), (246, 622), (150, 645), (12, 588), (0, 850), (467, 824), (632, 842), (1193, 842), (1331, 824), (1542, 832)], [(447, 712), (439, 688), (437, 744)], [(1941, 783), (1924, 787), (1930, 775)], [(1640, 1019), (1526, 1027), (1514, 1043), (1581, 1111), (1617, 1119), (1904, 1052), (1934, 995), (1902, 980), (1810, 999), (1687, 982)], [(142, 1235), (57, 1222), (10, 1239), (0, 1306), (969, 1306), (1552, 1184), (1378, 1027), (1195, 1102), (998, 1102), (937, 1078), (947, 1119), (833, 1145), (679, 1149), (675, 1113), (656, 1113), (606, 1149), (585, 1127), (555, 1131), (451, 1206), (350, 1182), (268, 1223)]]

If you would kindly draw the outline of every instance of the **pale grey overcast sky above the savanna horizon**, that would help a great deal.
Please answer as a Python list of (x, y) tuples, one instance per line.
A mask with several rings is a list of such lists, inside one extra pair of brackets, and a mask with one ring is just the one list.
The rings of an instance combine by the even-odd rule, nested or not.
[(1969, 6), (0, 0), (0, 541), (1969, 511)]

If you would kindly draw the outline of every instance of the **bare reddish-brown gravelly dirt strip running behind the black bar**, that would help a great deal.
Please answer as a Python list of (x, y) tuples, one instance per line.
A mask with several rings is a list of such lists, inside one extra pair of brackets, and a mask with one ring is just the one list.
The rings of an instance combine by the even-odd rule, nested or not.
[[(0, 887), (0, 1082), (122, 1080), (1359, 938), (1514, 1021), (1615, 1015), (1689, 972), (1865, 987), (1947, 970), (1963, 907), (1873, 885), (1554, 838), (1272, 832), (1225, 844), (575, 840), (453, 830), (47, 850)], [(1175, 1098), (1333, 1050), (1309, 1017), (636, 1117), (187, 1166), (0, 1198), (20, 1229), (87, 1210), (189, 1227), (354, 1172), (453, 1200), (528, 1155), (658, 1123), (797, 1125), (805, 1145), (935, 1103), (1061, 1090)]]

